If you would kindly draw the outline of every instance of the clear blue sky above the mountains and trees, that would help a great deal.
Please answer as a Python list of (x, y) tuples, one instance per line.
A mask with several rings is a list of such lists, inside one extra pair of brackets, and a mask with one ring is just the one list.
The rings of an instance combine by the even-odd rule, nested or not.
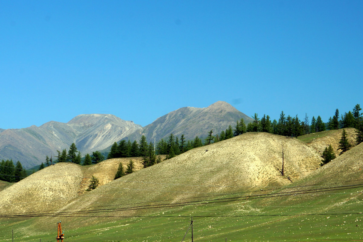
[(0, 128), (363, 107), (363, 1), (0, 1)]

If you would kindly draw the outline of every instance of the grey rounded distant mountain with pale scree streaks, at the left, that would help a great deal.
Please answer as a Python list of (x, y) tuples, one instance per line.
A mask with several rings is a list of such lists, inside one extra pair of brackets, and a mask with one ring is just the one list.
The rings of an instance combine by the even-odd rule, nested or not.
[(141, 128), (111, 114), (81, 114), (68, 123), (50, 121), (39, 127), (7, 129), (0, 133), (0, 159), (34, 166), (44, 162), (46, 155), (56, 155), (56, 150), (68, 150), (72, 143), (85, 155)]

